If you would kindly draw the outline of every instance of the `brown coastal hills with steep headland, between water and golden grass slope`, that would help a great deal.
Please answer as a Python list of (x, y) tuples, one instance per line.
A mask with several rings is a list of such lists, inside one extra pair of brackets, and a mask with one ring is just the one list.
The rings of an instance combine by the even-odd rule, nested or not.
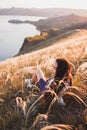
[[(87, 18), (76, 15), (40, 20), (37, 24), (42, 25), (38, 27), (36, 24), (36, 26), (40, 30), (43, 30), (43, 26), (44, 31), (42, 31), (40, 35), (25, 38), (18, 55), (39, 50), (50, 46), (63, 38), (68, 38), (76, 33), (76, 29), (87, 29), (87, 22), (84, 21), (87, 21)], [(47, 25), (49, 27), (47, 27)]]

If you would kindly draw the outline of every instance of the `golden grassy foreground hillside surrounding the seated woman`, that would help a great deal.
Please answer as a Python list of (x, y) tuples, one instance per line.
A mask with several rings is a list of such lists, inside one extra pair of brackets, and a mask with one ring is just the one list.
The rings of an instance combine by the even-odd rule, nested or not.
[[(87, 71), (84, 73), (84, 70), (87, 70), (87, 30), (77, 29), (71, 34), (73, 35), (56, 41), (55, 44), (44, 49), (0, 62), (0, 130), (26, 130), (26, 121), (27, 127), (32, 126), (32, 130), (48, 130), (47, 127), (43, 128), (46, 125), (51, 125), (48, 126), (50, 130), (53, 128), (56, 130), (60, 128), (61, 130), (78, 128), (86, 130)], [(38, 40), (38, 38), (36, 39)], [(72, 89), (63, 95), (65, 107), (57, 104), (53, 91), (48, 90), (41, 95), (37, 87), (34, 86), (30, 90), (25, 85), (25, 79), (31, 78), (37, 68), (37, 63), (45, 76), (49, 78), (52, 75), (51, 69), (54, 59), (58, 57), (68, 59), (73, 68)], [(80, 65), (82, 65), (82, 69)], [(17, 97), (21, 97), (23, 103), (27, 103), (26, 116), (23, 116), (21, 110), (19, 112), (16, 110)], [(47, 110), (47, 107), (50, 109)], [(40, 114), (41, 110), (44, 114), (43, 112)], [(28, 112), (30, 113), (28, 114)], [(50, 113), (53, 116), (50, 116)], [(50, 124), (45, 117), (49, 117)], [(54, 119), (58, 125), (53, 125)]]

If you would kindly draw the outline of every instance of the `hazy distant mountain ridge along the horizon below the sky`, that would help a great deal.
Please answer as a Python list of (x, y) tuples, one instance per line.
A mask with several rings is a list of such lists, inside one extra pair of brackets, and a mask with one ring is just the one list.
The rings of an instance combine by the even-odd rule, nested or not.
[(4, 8), (0, 9), (0, 15), (29, 15), (44, 17), (59, 17), (69, 14), (87, 16), (87, 10), (67, 9), (67, 8), (45, 8), (45, 9), (26, 9), (26, 8)]

